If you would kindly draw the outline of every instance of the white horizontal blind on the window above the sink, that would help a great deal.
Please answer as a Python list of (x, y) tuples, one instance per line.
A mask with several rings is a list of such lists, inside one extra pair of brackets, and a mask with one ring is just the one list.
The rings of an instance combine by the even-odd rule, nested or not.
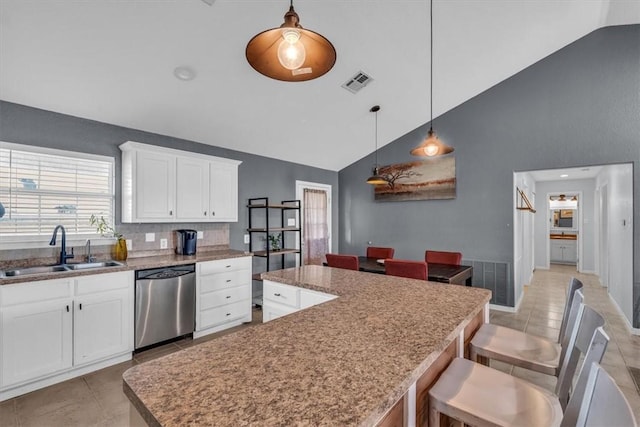
[(58, 224), (67, 234), (95, 234), (91, 214), (113, 224), (113, 159), (24, 147), (0, 146), (0, 237), (50, 235)]

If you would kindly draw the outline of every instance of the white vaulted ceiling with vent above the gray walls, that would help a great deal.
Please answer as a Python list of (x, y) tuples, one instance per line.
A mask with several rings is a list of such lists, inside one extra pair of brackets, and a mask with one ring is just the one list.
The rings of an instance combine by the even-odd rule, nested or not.
[[(335, 67), (284, 83), (247, 63), (286, 0), (0, 0), (0, 99), (340, 170), (429, 120), (426, 0), (296, 0)], [(608, 25), (638, 0), (436, 0), (434, 117)], [(173, 75), (196, 70), (192, 81)], [(374, 81), (341, 85), (358, 71)], [(145, 142), (145, 141), (141, 141)]]

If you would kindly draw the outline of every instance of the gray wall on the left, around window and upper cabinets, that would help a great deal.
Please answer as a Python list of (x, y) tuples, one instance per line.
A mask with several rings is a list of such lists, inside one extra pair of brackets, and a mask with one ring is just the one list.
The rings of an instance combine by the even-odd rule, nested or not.
[[(37, 145), (60, 150), (112, 156), (116, 159), (116, 217), (120, 221), (121, 152), (118, 145), (137, 141), (162, 147), (241, 160), (239, 167), (238, 222), (229, 224), (229, 246), (246, 250), (247, 199), (269, 197), (275, 202), (295, 199), (295, 181), (311, 181), (332, 185), (333, 235), (338, 234), (338, 173), (281, 160), (270, 159), (192, 141), (172, 138), (57, 114), (23, 105), (0, 101), (0, 140), (18, 144)], [(119, 227), (126, 230), (128, 225)], [(181, 224), (141, 224), (137, 232), (184, 228)], [(334, 245), (337, 247), (337, 240)], [(134, 248), (135, 249), (135, 248)]]

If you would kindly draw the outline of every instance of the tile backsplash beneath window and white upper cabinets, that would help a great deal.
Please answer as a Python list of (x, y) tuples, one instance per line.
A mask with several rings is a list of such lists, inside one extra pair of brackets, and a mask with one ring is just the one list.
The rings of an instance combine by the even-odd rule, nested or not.
[[(125, 239), (131, 240), (132, 250), (129, 251), (129, 258), (139, 256), (170, 254), (175, 251), (176, 233), (175, 230), (192, 229), (203, 232), (203, 238), (197, 242), (198, 252), (207, 250), (227, 249), (229, 247), (229, 224), (228, 223), (193, 223), (193, 224), (120, 224), (117, 227), (119, 233), (122, 233)], [(53, 232), (53, 230), (52, 230)], [(155, 234), (155, 241), (146, 242), (147, 233)], [(43, 241), (48, 241), (50, 236), (44, 236)], [(69, 237), (71, 240), (72, 237)], [(99, 259), (111, 257), (113, 245), (97, 245), (95, 242), (99, 238), (91, 239), (91, 254)], [(167, 239), (167, 248), (160, 248), (160, 240)], [(75, 240), (75, 239), (74, 239)], [(76, 240), (77, 242), (77, 240)], [(75, 242), (74, 242), (75, 243)], [(67, 252), (74, 249), (75, 258), (69, 262), (78, 262), (84, 258), (85, 244), (67, 244)], [(60, 242), (53, 246), (43, 248), (28, 249), (0, 249), (0, 261), (12, 261), (22, 259), (51, 259), (52, 263), (57, 261), (60, 254)]]

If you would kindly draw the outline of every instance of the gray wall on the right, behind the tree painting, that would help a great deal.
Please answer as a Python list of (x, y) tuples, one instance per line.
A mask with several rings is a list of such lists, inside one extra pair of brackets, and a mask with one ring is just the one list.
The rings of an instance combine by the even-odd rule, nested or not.
[[(607, 27), (438, 117), (434, 129), (455, 147), (455, 200), (376, 203), (365, 183), (373, 154), (340, 171), (340, 251), (363, 253), (373, 241), (395, 247), (398, 258), (440, 248), (513, 265), (513, 171), (619, 162), (638, 170), (639, 70), (640, 25)], [(414, 160), (409, 151), (427, 130), (425, 124), (382, 148), (380, 163)], [(638, 173), (633, 179), (638, 201)], [(634, 220), (640, 224), (640, 209)], [(639, 327), (638, 226), (633, 259)]]

